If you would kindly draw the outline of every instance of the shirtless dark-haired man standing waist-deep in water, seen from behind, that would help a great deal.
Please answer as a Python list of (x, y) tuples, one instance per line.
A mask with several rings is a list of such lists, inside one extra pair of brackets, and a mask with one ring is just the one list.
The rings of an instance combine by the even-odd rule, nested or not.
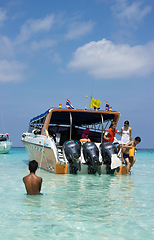
[(42, 185), (42, 178), (35, 175), (35, 172), (38, 167), (38, 162), (32, 160), (29, 162), (29, 171), (30, 174), (23, 177), (23, 182), (26, 187), (26, 191), (28, 195), (37, 195), (41, 194), (41, 185)]

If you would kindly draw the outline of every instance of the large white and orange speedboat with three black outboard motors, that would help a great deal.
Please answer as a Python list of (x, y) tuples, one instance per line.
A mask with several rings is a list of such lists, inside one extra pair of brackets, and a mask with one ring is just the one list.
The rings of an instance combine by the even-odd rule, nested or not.
[[(121, 161), (116, 146), (103, 142), (103, 134), (119, 117), (115, 111), (50, 108), (30, 120), (21, 141), (29, 160), (50, 172), (113, 174)], [(87, 128), (90, 141), (81, 139)]]

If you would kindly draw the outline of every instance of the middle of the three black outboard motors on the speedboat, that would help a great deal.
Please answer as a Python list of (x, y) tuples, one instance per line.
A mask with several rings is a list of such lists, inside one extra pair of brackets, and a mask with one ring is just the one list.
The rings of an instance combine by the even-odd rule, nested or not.
[(98, 172), (98, 174), (101, 174), (101, 167), (99, 162), (99, 150), (95, 143), (93, 142), (86, 142), (82, 145), (83, 147), (83, 156), (86, 161), (86, 164), (88, 165), (88, 173), (89, 174), (95, 174)]

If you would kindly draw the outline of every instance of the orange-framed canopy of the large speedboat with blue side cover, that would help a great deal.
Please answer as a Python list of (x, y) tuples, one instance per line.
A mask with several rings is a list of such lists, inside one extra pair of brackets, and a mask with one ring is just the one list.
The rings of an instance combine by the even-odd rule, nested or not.
[(120, 113), (113, 111), (50, 108), (45, 113), (30, 120), (28, 132), (32, 132), (33, 129), (40, 129), (41, 134), (50, 135), (49, 128), (63, 126), (70, 129), (68, 137), (72, 139), (73, 127), (80, 130), (88, 127), (93, 132), (99, 132), (102, 141), (103, 132), (109, 123), (111, 121), (117, 123), (119, 117)]

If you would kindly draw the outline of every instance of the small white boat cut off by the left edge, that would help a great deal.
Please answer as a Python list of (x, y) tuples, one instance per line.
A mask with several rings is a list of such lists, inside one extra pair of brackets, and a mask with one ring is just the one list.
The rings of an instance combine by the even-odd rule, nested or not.
[(0, 153), (8, 153), (12, 147), (12, 142), (9, 140), (9, 134), (0, 134)]

